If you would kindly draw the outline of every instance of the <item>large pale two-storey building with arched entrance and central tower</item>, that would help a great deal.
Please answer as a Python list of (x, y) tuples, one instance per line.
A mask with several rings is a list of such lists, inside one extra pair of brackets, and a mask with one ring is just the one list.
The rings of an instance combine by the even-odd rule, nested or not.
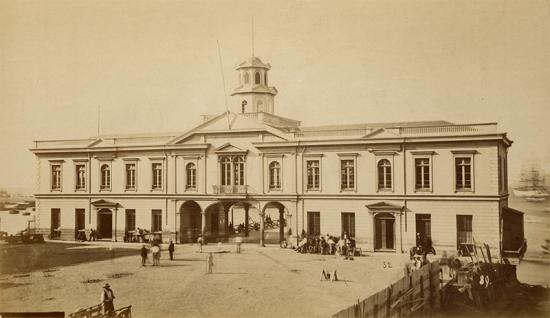
[(437, 250), (522, 246), (523, 215), (508, 208), (512, 142), (496, 123), (303, 127), (275, 114), (270, 68), (239, 64), (238, 112), (179, 134), (36, 141), (40, 231), (120, 241), (139, 227), (185, 243), (257, 222), (245, 235), (261, 243), (305, 231), (346, 232), (368, 251), (407, 251), (417, 233)]

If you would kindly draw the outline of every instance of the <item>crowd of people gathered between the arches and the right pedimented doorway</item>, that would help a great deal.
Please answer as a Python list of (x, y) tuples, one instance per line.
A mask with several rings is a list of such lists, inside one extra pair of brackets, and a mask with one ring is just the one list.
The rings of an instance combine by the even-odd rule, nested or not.
[(302, 240), (296, 248), (298, 253), (326, 254), (353, 256), (355, 254), (355, 240), (351, 239), (347, 233), (344, 233), (341, 238), (326, 234), (325, 236), (307, 236), (302, 233)]

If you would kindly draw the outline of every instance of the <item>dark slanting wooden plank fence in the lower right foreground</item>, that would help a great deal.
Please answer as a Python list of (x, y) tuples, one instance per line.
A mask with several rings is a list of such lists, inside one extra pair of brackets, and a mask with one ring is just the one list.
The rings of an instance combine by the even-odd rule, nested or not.
[(406, 274), (397, 282), (332, 318), (399, 317), (413, 313), (429, 314), (440, 306), (440, 266), (437, 261)]

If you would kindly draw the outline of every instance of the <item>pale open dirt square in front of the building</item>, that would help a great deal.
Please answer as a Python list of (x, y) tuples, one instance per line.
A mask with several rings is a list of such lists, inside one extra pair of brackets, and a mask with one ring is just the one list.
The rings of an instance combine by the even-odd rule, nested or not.
[[(134, 317), (327, 317), (399, 279), (408, 256), (297, 254), (279, 247), (164, 247), (161, 266), (142, 267), (137, 244), (0, 245), (2, 311), (65, 311), (99, 303), (108, 282), (115, 307)], [(213, 274), (205, 274), (207, 253)], [(149, 262), (151, 260), (149, 259)], [(340, 281), (320, 281), (323, 269)]]

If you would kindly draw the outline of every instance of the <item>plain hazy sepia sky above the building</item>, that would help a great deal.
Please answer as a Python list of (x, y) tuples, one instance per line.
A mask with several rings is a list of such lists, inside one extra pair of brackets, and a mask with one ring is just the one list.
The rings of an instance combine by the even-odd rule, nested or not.
[(550, 1), (0, 0), (0, 187), (32, 188), (32, 141), (94, 136), (98, 113), (110, 134), (225, 111), (252, 18), (276, 114), (498, 122), (512, 177), (550, 172)]

